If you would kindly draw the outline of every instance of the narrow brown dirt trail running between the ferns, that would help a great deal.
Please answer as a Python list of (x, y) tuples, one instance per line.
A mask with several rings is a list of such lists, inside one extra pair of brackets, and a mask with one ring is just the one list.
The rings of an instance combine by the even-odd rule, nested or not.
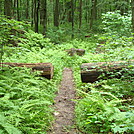
[(49, 134), (78, 134), (74, 128), (75, 98), (72, 70), (65, 68), (57, 97), (55, 98), (55, 122)]

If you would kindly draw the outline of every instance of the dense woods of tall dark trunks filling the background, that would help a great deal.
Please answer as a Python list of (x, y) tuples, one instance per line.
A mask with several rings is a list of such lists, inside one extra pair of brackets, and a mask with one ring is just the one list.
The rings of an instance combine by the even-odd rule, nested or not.
[(133, 0), (1, 0), (0, 10), (9, 18), (30, 22), (35, 32), (44, 35), (53, 26), (66, 28), (69, 23), (74, 34), (74, 28), (79, 32), (99, 30), (101, 14), (108, 11), (132, 12), (133, 24), (133, 5)]

